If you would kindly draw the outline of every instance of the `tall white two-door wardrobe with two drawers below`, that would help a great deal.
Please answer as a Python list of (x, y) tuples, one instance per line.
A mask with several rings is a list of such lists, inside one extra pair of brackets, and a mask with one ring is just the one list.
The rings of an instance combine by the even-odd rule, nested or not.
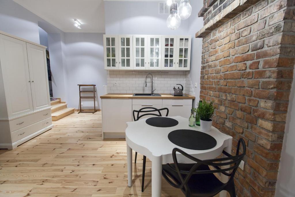
[(46, 47), (0, 31), (0, 148), (53, 127)]

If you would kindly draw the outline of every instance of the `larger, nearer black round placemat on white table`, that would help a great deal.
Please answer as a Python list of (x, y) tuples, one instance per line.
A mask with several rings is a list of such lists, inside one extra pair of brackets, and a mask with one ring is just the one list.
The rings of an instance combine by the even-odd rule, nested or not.
[(189, 129), (171, 131), (168, 139), (177, 146), (192, 150), (207, 150), (217, 144), (216, 139), (207, 133)]

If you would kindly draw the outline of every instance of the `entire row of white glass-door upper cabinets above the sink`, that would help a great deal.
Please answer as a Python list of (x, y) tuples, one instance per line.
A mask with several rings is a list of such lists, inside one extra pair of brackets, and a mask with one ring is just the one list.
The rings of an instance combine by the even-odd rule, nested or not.
[(190, 70), (191, 36), (104, 35), (106, 70)]

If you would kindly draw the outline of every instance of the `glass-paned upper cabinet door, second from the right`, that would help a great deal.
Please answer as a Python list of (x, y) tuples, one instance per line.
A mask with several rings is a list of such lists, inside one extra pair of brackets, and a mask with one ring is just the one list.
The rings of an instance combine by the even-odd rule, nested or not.
[(162, 38), (162, 70), (176, 69), (177, 36), (163, 35)]

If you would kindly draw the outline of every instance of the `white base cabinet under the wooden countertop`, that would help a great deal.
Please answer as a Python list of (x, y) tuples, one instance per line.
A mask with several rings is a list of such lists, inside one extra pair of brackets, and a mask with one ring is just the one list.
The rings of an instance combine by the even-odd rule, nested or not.
[[(192, 99), (101, 99), (102, 131), (104, 138), (125, 138), (127, 122), (134, 121), (133, 110), (145, 107), (168, 108), (168, 116), (189, 118), (193, 105)], [(166, 115), (163, 111), (163, 116)], [(142, 115), (144, 113), (140, 113)], [(154, 117), (147, 115), (142, 118)], [(137, 113), (135, 113), (137, 118)]]

